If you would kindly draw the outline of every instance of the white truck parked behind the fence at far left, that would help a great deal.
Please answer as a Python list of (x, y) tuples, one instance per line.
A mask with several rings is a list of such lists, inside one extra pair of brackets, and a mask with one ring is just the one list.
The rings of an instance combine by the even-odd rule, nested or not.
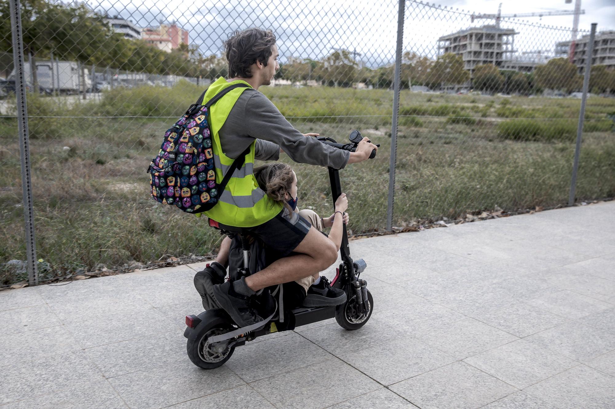
[[(36, 61), (36, 74), (38, 83), (42, 88), (55, 90), (60, 93), (87, 92), (92, 88), (92, 76), (89, 69), (83, 68), (83, 73), (79, 72), (79, 64), (73, 61)], [(32, 82), (30, 63), (26, 61), (23, 72), (26, 81)], [(11, 72), (10, 78), (14, 77), (15, 70)], [(81, 78), (79, 77), (81, 75)]]

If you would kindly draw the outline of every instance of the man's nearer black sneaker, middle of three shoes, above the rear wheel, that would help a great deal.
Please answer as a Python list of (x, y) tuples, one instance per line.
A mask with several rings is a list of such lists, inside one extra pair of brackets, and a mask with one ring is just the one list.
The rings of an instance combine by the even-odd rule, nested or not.
[[(224, 308), (224, 311), (239, 327), (262, 322), (274, 312), (271, 306), (276, 305), (268, 291), (250, 297), (237, 294), (232, 288), (232, 281), (213, 286), (213, 295), (216, 297), (216, 302)], [(266, 323), (263, 322), (264, 324)]]

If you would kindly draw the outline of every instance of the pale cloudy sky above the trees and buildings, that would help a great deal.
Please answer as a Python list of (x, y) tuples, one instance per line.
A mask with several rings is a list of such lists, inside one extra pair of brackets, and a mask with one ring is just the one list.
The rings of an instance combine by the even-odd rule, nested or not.
[[(493, 20), (471, 23), (469, 14), (495, 14), (499, 2), (504, 15), (574, 7), (565, 4), (565, 0), (443, 0), (442, 7), (437, 8), (407, 0), (403, 50), (434, 58), (438, 37), (470, 26), (493, 24)], [(221, 55), (222, 41), (232, 31), (260, 26), (276, 33), (282, 62), (290, 56), (323, 58), (336, 48), (356, 50), (360, 54), (357, 59), (371, 67), (394, 61), (398, 7), (395, 0), (95, 0), (89, 4), (98, 11), (131, 19), (141, 27), (157, 26), (158, 21), (177, 21), (188, 29), (191, 44), (199, 45), (205, 55)], [(592, 22), (598, 23), (598, 31), (615, 29), (615, 0), (584, 0), (581, 8), (585, 15), (580, 17), (579, 29), (589, 30)], [(518, 33), (514, 39), (517, 56), (538, 52), (549, 55), (555, 42), (571, 37), (572, 23), (573, 16), (568, 15), (502, 20), (501, 27)]]

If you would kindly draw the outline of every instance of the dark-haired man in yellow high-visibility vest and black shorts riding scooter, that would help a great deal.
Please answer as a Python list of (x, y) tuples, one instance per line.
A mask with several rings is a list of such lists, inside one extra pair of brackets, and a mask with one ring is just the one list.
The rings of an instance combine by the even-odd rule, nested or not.
[[(204, 101), (235, 84), (247, 87), (231, 90), (210, 107), (216, 179), (224, 176), (247, 147), (250, 150), (244, 166), (234, 171), (218, 203), (205, 215), (220, 225), (245, 228), (280, 257), (253, 275), (213, 286), (216, 302), (237, 325), (244, 327), (264, 319), (253, 302), (256, 297), (271, 297), (266, 292), (257, 296), (261, 289), (313, 276), (337, 259), (335, 244), (306, 219), (287, 211), (263, 192), (253, 175), (254, 160), (277, 160), (280, 152), (285, 152), (295, 162), (341, 169), (347, 163), (367, 160), (378, 147), (367, 138), (359, 142), (355, 152), (322, 144), (311, 138), (315, 134), (302, 134), (293, 128), (258, 92), (261, 85), (271, 84), (279, 69), (276, 37), (271, 31), (237, 31), (224, 47), (230, 79), (221, 77), (210, 85)], [(199, 293), (203, 294), (199, 286), (203, 286), (204, 279), (219, 282), (225, 273), (216, 265), (197, 273), (195, 285)], [(331, 298), (331, 305), (335, 305), (335, 297)]]

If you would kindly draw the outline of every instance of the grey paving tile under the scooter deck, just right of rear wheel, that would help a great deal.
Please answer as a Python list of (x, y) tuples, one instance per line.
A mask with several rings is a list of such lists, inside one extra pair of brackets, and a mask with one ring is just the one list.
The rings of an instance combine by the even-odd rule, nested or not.
[(297, 333), (236, 348), (226, 366), (245, 382), (306, 367), (332, 357)]

